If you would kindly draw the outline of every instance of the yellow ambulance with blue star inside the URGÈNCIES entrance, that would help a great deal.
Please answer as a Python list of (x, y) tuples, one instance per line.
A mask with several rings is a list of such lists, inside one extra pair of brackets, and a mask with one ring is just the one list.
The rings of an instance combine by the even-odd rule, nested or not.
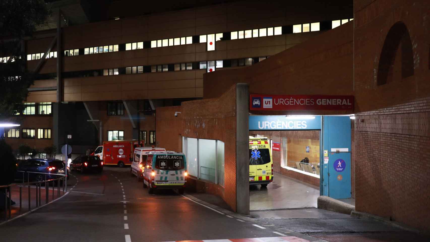
[(273, 160), (267, 137), (249, 136), (249, 185), (261, 187), (273, 181)]

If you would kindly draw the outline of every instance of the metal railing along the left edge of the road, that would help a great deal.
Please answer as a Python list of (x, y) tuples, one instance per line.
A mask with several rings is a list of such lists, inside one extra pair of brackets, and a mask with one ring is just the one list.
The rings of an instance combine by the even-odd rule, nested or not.
[[(22, 187), (28, 186), (28, 211), (31, 211), (31, 187), (30, 185), (35, 184), (36, 186), (36, 207), (41, 206), (41, 192), (40, 187), (44, 183), (46, 190), (45, 204), (49, 201), (49, 183), (52, 182), (52, 200), (54, 200), (55, 193), (55, 181), (57, 183), (57, 197), (60, 197), (60, 181), (62, 181), (63, 195), (67, 192), (67, 178), (63, 174), (51, 174), (43, 172), (22, 172), (22, 183), (9, 184), (0, 186), (0, 191), (4, 191), (4, 221), (11, 219), (11, 203), (12, 203), (12, 187), (19, 187), (19, 214), (22, 214)], [(27, 173), (27, 182), (25, 182), (25, 173)], [(30, 174), (41, 174), (45, 175), (44, 181), (32, 181), (30, 182)], [(60, 178), (47, 179), (47, 176), (60, 176)], [(9, 200), (9, 201), (8, 201)], [(9, 216), (8, 216), (9, 214)]]

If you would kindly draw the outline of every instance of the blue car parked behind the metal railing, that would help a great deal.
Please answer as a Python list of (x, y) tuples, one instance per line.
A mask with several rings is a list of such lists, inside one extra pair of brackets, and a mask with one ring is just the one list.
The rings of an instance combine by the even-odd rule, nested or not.
[[(58, 159), (27, 159), (25, 161), (22, 161), (18, 164), (17, 171), (16, 172), (16, 179), (19, 179), (22, 181), (22, 174), (24, 174), (24, 181), (27, 181), (27, 177), (29, 176), (30, 181), (44, 181), (45, 175), (46, 179), (55, 179), (60, 178), (61, 176), (58, 175), (51, 175), (51, 174), (61, 174), (64, 175), (65, 173), (65, 165), (64, 162)], [(46, 173), (46, 174), (35, 174), (35, 173), (27, 173), (27, 172), (40, 172), (40, 173)], [(69, 178), (67, 178), (69, 179)]]

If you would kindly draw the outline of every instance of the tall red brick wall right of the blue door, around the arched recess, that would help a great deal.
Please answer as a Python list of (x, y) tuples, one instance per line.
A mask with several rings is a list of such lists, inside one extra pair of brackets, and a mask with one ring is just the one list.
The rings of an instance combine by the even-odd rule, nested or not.
[[(355, 0), (354, 6), (356, 210), (428, 231), (430, 2)], [(412, 55), (413, 75), (402, 77), (402, 63), (408, 61), (407, 45), (400, 42), (388, 82), (378, 86), (384, 70), (379, 62), (386, 57), (381, 52), (399, 22), (412, 43), (406, 52)]]

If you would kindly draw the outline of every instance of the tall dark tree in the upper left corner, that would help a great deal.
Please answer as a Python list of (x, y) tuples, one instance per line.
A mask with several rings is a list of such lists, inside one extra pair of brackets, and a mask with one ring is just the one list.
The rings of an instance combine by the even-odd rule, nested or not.
[[(33, 34), (51, 14), (50, 5), (43, 0), (0, 1), (0, 118), (22, 112), (28, 88), (34, 75), (26, 70), (26, 53), (22, 51), (25, 37)], [(9, 57), (9, 58), (4, 58)]]

